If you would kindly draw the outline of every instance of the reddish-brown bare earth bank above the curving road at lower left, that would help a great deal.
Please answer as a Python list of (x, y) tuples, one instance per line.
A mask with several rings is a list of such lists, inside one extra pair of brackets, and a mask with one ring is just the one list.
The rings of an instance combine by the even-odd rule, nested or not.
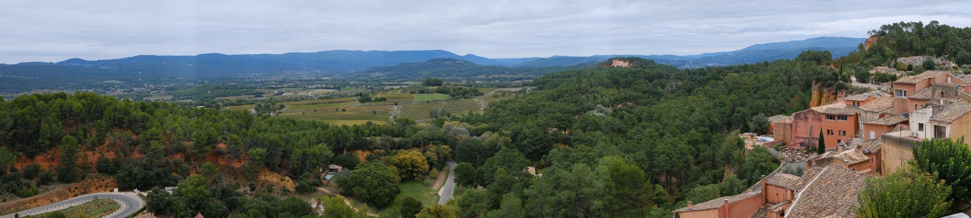
[(118, 185), (115, 178), (99, 177), (88, 179), (79, 183), (57, 186), (59, 187), (34, 197), (10, 202), (0, 202), (0, 214), (8, 214), (20, 210), (48, 205), (54, 202), (61, 202), (85, 194), (110, 192)]

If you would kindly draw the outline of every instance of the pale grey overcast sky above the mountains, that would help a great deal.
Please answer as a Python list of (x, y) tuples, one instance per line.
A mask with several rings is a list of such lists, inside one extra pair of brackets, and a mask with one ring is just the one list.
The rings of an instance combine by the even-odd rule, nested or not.
[(445, 49), (485, 57), (696, 54), (897, 21), (971, 25), (967, 1), (2, 1), (0, 63), (138, 54)]

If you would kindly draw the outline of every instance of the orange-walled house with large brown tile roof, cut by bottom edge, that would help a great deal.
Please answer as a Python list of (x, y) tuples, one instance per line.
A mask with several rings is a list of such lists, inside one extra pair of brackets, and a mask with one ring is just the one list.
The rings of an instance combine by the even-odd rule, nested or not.
[(869, 175), (839, 165), (813, 167), (802, 176), (773, 172), (757, 191), (671, 211), (682, 218), (856, 217), (856, 193)]

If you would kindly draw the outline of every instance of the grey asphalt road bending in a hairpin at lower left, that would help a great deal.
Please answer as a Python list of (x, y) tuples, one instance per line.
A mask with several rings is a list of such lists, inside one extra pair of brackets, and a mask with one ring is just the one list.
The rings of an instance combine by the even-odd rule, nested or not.
[[(87, 202), (89, 200), (93, 200), (95, 198), (97, 198), (97, 199), (111, 199), (111, 200), (115, 200), (115, 201), (121, 203), (121, 208), (118, 209), (115, 213), (112, 213), (111, 215), (109, 215), (108, 216), (109, 218), (122, 218), (122, 217), (126, 217), (128, 215), (131, 215), (131, 214), (135, 213), (135, 211), (138, 211), (143, 206), (145, 206), (145, 201), (142, 200), (142, 198), (139, 198), (138, 196), (135, 196), (135, 194), (131, 194), (131, 193), (96, 193), (96, 194), (87, 194), (87, 195), (75, 197), (73, 199), (65, 200), (63, 202), (54, 202), (54, 203), (51, 203), (51, 204), (46, 205), (46, 206), (41, 206), (41, 207), (37, 207), (37, 208), (33, 208), (33, 209), (19, 211), (19, 212), (17, 212), (17, 214), (20, 214), (20, 216), (23, 217), (25, 215), (36, 215), (36, 214), (40, 214), (40, 213), (52, 212), (52, 211), (56, 211), (56, 210), (66, 209), (66, 208), (71, 207), (73, 205), (82, 204), (84, 202)], [(72, 214), (67, 214), (67, 215), (68, 216), (71, 216)], [(14, 213), (0, 216), (0, 218), (13, 218), (13, 217), (14, 217)]]

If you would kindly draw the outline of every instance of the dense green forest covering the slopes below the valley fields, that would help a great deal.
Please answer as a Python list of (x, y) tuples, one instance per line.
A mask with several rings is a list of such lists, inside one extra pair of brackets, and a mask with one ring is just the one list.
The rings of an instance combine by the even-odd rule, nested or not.
[[(758, 113), (806, 108), (813, 79), (836, 77), (811, 61), (680, 70), (626, 60), (632, 68), (551, 74), (535, 81), (535, 91), (483, 114), (427, 124), (398, 119), (332, 126), (91, 93), (26, 95), (0, 102), (0, 165), (10, 169), (17, 157), (44, 156), (60, 164), (40, 171), (61, 182), (100, 172), (114, 175), (122, 188), (197, 187), (184, 190), (208, 197), (177, 191), (169, 201), (186, 203), (152, 211), (224, 217), (254, 216), (263, 203), (288, 201), (230, 191), (247, 183), (251, 191), (263, 190), (266, 184), (252, 181), (264, 169), (294, 178), (297, 192), (319, 184), (318, 167), (359, 169), (335, 178), (342, 193), (384, 207), (399, 192), (399, 181), (421, 177), (453, 156), (456, 179), (466, 188), (447, 208), (465, 217), (666, 216), (666, 208), (735, 194), (773, 171), (776, 161), (766, 150), (743, 155), (731, 132)], [(372, 152), (359, 164), (353, 150)], [(544, 176), (524, 172), (527, 166)], [(5, 173), (0, 195), (46, 184), (18, 171)], [(200, 171), (223, 176), (190, 176)]]

